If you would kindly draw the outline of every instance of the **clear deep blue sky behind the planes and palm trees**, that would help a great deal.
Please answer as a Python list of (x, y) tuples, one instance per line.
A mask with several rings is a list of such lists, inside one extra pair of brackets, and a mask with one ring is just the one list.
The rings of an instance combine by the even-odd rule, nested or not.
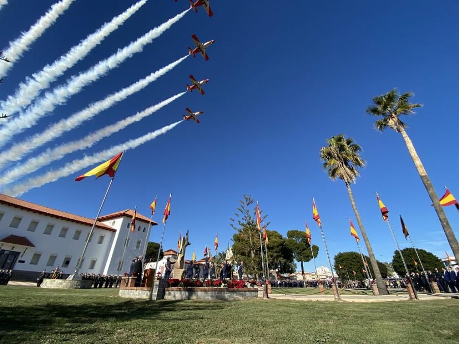
[[(134, 2), (73, 3), (10, 70), (0, 86), (0, 98), (12, 94), (25, 77), (66, 53)], [(6, 47), (52, 3), (9, 1), (0, 11), (0, 45)], [(319, 246), (317, 263), (327, 265), (319, 230), (311, 218), (312, 197), (331, 255), (356, 250), (347, 218), (356, 221), (345, 186), (329, 180), (319, 161), (319, 148), (325, 140), (344, 133), (364, 149), (367, 168), (353, 191), (376, 258), (389, 261), (395, 249), (379, 213), (376, 191), (389, 208), (403, 247), (407, 243), (398, 214), (402, 214), (418, 247), (440, 257), (445, 257), (444, 251), (451, 255), (402, 138), (393, 131), (379, 133), (373, 129), (373, 118), (365, 114), (365, 109), (373, 96), (393, 87), (414, 91), (413, 101), (425, 107), (406, 120), (407, 132), (438, 194), (441, 196), (443, 185), (447, 185), (459, 197), (459, 162), (454, 153), (459, 124), (459, 5), (454, 1), (289, 1), (279, 5), (274, 0), (260, 4), (214, 0), (212, 18), (202, 8), (197, 14), (188, 12), (142, 53), (70, 98), (53, 115), (16, 136), (14, 142), (184, 56), (192, 44), (190, 35), (195, 33), (201, 41), (216, 40), (208, 50), (209, 61), (188, 57), (144, 90), (47, 147), (81, 138), (183, 91), (189, 74), (199, 80), (211, 79), (204, 96), (185, 94), (84, 153), (72, 153), (50, 167), (59, 168), (83, 154), (173, 123), (182, 117), (185, 107), (205, 111), (201, 124), (184, 122), (154, 141), (127, 151), (103, 213), (136, 205), (142, 214), (149, 215), (148, 206), (158, 195), (154, 219), (159, 222), (172, 192), (164, 247), (175, 247), (179, 231), (189, 229), (192, 246), (187, 254), (191, 257), (194, 250), (200, 256), (205, 245), (212, 246), (216, 231), (220, 248), (230, 242), (234, 230), (228, 225), (229, 217), (242, 195), (251, 194), (268, 214), (270, 229), (285, 235), (289, 229), (304, 229), (306, 219), (313, 243)], [(187, 6), (185, 0), (150, 0), (52, 87), (110, 56)], [(94, 217), (109, 178), (74, 181), (87, 170), (90, 168), (31, 190), (21, 198)], [(458, 233), (456, 209), (448, 207), (445, 211)], [(160, 229), (154, 228), (151, 240), (159, 241)], [(306, 269), (310, 271), (312, 266), (312, 262), (307, 263)]]

